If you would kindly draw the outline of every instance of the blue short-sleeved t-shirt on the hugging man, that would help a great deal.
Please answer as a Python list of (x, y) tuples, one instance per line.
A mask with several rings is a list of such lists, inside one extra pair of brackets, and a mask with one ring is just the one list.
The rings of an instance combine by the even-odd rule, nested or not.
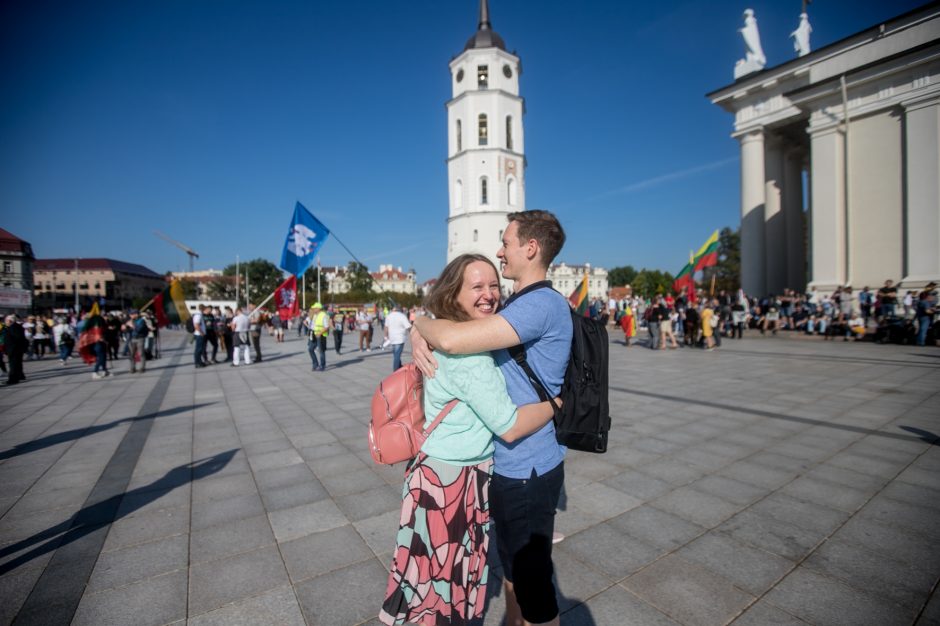
[[(498, 313), (519, 335), (529, 367), (554, 395), (561, 391), (571, 355), (570, 311), (564, 296), (554, 289), (541, 288), (511, 299)], [(532, 383), (507, 350), (495, 350), (493, 357), (516, 406), (539, 402)], [(565, 459), (565, 448), (556, 441), (552, 422), (514, 443), (507, 444), (502, 439), (495, 443), (493, 471), (507, 478), (529, 478), (533, 469), (541, 476)]]

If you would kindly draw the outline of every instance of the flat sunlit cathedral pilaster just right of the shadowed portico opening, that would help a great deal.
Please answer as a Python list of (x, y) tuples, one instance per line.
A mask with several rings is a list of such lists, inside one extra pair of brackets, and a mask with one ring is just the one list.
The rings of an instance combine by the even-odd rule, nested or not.
[(845, 151), (835, 125), (811, 132), (811, 284), (831, 291), (845, 283)]

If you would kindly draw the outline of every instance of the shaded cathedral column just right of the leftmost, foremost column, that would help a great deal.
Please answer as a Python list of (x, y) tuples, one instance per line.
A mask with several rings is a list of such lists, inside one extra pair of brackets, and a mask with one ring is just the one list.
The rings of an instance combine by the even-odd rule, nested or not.
[(783, 212), (783, 142), (768, 135), (764, 142), (765, 289), (779, 294), (787, 286), (787, 229)]

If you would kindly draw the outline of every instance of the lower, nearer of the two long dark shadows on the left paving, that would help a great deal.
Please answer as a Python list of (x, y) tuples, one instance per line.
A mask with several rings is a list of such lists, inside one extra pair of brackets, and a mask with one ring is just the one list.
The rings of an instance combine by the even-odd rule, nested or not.
[[(32, 547), (32, 550), (29, 552), (0, 564), (0, 576), (13, 571), (21, 565), (29, 563), (43, 554), (57, 550), (73, 541), (77, 541), (103, 526), (109, 526), (118, 519), (126, 517), (134, 511), (163, 497), (177, 487), (181, 487), (189, 482), (195, 482), (221, 471), (228, 465), (229, 461), (232, 460), (236, 452), (238, 452), (237, 448), (216, 454), (207, 459), (174, 467), (150, 484), (137, 487), (125, 493), (113, 495), (101, 502), (87, 505), (75, 515), (51, 528), (40, 531), (22, 541), (17, 541), (16, 543), (0, 548), (0, 559), (3, 559), (21, 550)], [(124, 509), (119, 516), (118, 509), (125, 498), (132, 504)]]

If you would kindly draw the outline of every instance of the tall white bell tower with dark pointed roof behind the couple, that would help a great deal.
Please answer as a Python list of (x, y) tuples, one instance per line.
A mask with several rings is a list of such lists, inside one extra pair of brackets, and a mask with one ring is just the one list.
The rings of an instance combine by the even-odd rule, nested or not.
[(447, 261), (496, 250), (506, 215), (525, 210), (525, 136), (519, 96), (519, 57), (490, 26), (480, 0), (477, 32), (450, 62), (453, 97), (447, 102)]

